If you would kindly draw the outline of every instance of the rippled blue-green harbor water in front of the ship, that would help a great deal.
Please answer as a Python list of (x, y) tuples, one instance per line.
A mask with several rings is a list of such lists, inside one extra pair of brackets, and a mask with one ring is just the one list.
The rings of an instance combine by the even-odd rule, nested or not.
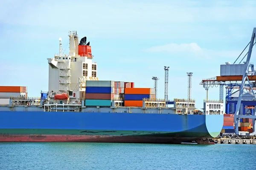
[(2, 142), (0, 151), (2, 170), (252, 170), (256, 144)]

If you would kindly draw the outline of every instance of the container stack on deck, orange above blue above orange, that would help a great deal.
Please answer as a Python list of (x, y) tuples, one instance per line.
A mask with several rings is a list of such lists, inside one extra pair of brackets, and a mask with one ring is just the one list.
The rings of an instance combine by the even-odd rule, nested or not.
[(125, 107), (143, 107), (143, 98), (150, 98), (150, 88), (125, 88)]

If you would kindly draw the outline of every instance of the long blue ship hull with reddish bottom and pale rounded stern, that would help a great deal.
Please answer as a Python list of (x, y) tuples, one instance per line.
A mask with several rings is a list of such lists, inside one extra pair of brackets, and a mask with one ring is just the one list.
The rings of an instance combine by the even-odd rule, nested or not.
[(223, 115), (0, 112), (0, 141), (181, 143), (214, 138)]

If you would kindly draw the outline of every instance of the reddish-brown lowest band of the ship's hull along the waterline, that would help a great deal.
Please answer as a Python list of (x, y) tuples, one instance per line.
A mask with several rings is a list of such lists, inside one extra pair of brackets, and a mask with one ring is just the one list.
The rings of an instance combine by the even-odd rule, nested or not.
[(0, 135), (0, 142), (118, 142), (180, 144), (184, 141), (197, 141), (198, 144), (212, 144), (196, 138), (158, 136), (104, 136), (104, 135)]

